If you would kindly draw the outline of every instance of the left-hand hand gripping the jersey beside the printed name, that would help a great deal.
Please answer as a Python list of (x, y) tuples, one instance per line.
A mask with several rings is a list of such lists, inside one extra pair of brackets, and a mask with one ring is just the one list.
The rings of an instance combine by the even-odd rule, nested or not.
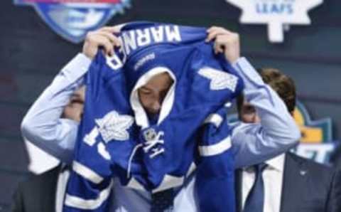
[(98, 48), (103, 47), (104, 53), (112, 55), (114, 53), (114, 46), (121, 46), (121, 42), (114, 33), (119, 33), (117, 26), (105, 26), (99, 28), (97, 31), (90, 31), (85, 37), (82, 53), (88, 58), (93, 59), (97, 54)]

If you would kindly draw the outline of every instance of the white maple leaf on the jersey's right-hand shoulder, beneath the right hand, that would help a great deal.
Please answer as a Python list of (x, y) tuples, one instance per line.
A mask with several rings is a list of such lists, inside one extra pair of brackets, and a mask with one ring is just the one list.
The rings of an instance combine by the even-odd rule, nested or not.
[(229, 89), (234, 92), (234, 90), (236, 89), (238, 78), (235, 75), (210, 67), (201, 68), (198, 73), (203, 77), (211, 80), (211, 90)]

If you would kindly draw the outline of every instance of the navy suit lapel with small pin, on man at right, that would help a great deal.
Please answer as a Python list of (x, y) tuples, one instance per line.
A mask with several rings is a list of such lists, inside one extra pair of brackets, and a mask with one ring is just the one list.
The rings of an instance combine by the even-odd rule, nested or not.
[(286, 154), (281, 194), (281, 212), (292, 212), (302, 203), (303, 191), (307, 185), (308, 169), (303, 160)]

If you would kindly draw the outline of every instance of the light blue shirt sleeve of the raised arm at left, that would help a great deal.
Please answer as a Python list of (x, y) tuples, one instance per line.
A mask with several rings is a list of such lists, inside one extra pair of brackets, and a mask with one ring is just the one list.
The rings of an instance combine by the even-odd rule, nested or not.
[(23, 137), (62, 161), (72, 154), (77, 123), (60, 117), (72, 93), (82, 85), (89, 65), (85, 55), (72, 59), (33, 103), (21, 123)]

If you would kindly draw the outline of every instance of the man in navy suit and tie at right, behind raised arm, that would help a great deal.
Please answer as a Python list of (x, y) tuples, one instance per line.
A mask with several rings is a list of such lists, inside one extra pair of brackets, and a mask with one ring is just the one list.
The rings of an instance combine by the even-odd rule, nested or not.
[[(261, 68), (259, 73), (293, 115), (296, 107), (293, 80), (274, 68)], [(259, 111), (243, 95), (237, 98), (237, 110), (242, 122), (261, 122)], [(237, 171), (237, 211), (341, 211), (340, 177), (340, 172), (329, 166), (286, 152)]]

